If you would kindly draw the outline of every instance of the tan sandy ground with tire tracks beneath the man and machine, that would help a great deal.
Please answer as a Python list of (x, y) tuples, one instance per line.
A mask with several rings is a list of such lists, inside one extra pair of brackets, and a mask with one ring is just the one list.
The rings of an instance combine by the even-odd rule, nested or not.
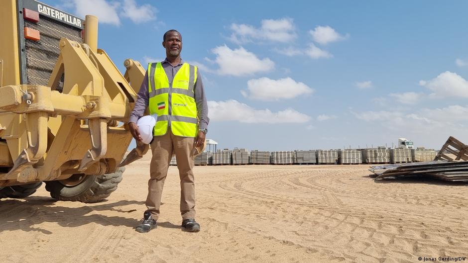
[(102, 203), (55, 201), (44, 187), (25, 199), (1, 199), (0, 262), (414, 263), (468, 256), (467, 185), (374, 181), (367, 168), (196, 167), (202, 231), (188, 233), (179, 227), (171, 167), (159, 227), (140, 234), (134, 227), (149, 170), (140, 160)]

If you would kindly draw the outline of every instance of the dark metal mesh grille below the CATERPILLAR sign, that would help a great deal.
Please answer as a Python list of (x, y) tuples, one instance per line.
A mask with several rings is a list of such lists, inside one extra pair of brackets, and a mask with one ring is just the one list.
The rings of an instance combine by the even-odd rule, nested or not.
[[(60, 55), (60, 38), (66, 37), (80, 44), (83, 43), (83, 39), (80, 28), (60, 23), (43, 15), (39, 18), (37, 23), (24, 20), (25, 27), (39, 30), (41, 34), (37, 42), (25, 40), (26, 76), (29, 85), (47, 86)], [(58, 86), (55, 87), (56, 90), (62, 92), (64, 80), (65, 76), (62, 74)]]

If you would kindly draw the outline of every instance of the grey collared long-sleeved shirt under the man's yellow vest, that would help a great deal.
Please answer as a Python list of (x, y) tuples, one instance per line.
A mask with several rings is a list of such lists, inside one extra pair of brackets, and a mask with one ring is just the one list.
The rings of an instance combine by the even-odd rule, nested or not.
[[(172, 66), (172, 64), (167, 60), (167, 58), (161, 62), (164, 71), (166, 72), (167, 79), (169, 83), (172, 83), (174, 76), (184, 64), (184, 61), (181, 59), (179, 65)], [(205, 96), (205, 89), (203, 87), (202, 76), (200, 71), (197, 71), (197, 81), (195, 82), (194, 87), (195, 94), (195, 103), (197, 104), (198, 119), (200, 121), (200, 129), (208, 129), (208, 123), (210, 119), (208, 118), (208, 103)], [(138, 96), (135, 102), (135, 107), (130, 113), (130, 120), (128, 122), (134, 122), (141, 118), (144, 115), (144, 112), (149, 104), (149, 90), (148, 90), (148, 71), (143, 79), (140, 90), (138, 91)]]

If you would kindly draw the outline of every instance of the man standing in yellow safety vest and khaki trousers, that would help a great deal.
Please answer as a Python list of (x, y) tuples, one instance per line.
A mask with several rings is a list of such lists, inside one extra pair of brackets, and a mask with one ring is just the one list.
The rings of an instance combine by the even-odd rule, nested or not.
[(180, 176), (180, 213), (182, 227), (190, 232), (200, 231), (195, 221), (195, 184), (193, 175), (194, 148), (203, 146), (208, 130), (208, 104), (198, 68), (180, 58), (182, 36), (177, 30), (164, 34), (162, 46), (166, 59), (149, 63), (135, 107), (130, 114), (129, 127), (135, 140), (141, 141), (136, 121), (149, 113), (157, 113), (153, 129), (148, 181), (147, 210), (136, 231), (146, 233), (157, 226), (162, 189), (169, 163), (174, 153)]

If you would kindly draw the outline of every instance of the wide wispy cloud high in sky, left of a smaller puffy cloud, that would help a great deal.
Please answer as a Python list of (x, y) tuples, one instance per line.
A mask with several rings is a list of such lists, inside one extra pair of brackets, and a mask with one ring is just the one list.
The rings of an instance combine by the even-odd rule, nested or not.
[(247, 24), (231, 24), (231, 40), (234, 43), (242, 44), (256, 39), (287, 42), (296, 38), (294, 22), (291, 18), (263, 19), (261, 27), (255, 28)]

